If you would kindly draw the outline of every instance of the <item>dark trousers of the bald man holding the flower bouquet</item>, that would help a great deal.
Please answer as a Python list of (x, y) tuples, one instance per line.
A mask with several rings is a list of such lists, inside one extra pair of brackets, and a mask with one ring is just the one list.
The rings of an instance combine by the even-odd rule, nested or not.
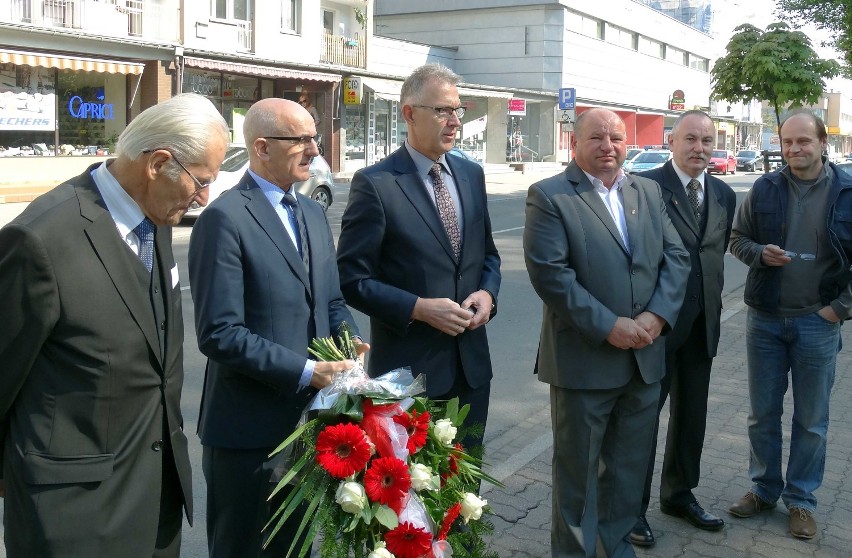
[[(266, 549), (263, 528), (287, 497), (282, 490), (267, 501), (275, 484), (274, 448), (228, 449), (203, 446), (202, 468), (207, 481), (207, 547), (210, 558), (281, 558), (287, 555), (306, 515), (305, 506), (284, 523)], [(300, 537), (293, 555), (304, 541)]]

